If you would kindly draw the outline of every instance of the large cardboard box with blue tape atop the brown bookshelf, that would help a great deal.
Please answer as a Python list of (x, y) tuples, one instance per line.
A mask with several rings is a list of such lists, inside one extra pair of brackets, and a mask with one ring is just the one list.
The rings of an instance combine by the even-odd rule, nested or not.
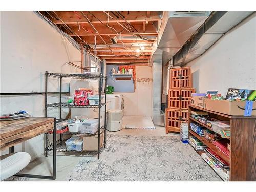
[[(245, 101), (211, 100), (204, 99), (204, 108), (207, 110), (224, 113), (227, 115), (244, 115)], [(256, 109), (256, 102), (253, 102), (252, 109)], [(251, 115), (256, 115), (256, 110), (252, 110)]]

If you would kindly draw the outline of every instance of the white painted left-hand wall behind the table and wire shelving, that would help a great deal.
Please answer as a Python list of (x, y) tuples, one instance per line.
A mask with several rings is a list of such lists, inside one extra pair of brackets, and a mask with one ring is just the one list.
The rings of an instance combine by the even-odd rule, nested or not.
[[(79, 61), (80, 51), (53, 27), (33, 12), (1, 12), (1, 93), (44, 92), (45, 71), (79, 73), (66, 64)], [(59, 89), (56, 79), (48, 82), (50, 92)], [(68, 81), (63, 91), (69, 91)], [(58, 96), (49, 97), (58, 102)], [(29, 111), (32, 116), (44, 117), (44, 96), (2, 96), (0, 113)], [(63, 111), (63, 117), (67, 114)], [(58, 117), (58, 109), (50, 109), (48, 116)], [(15, 146), (15, 151), (26, 151), (34, 159), (44, 153), (44, 135)], [(7, 150), (1, 154), (7, 153)]]

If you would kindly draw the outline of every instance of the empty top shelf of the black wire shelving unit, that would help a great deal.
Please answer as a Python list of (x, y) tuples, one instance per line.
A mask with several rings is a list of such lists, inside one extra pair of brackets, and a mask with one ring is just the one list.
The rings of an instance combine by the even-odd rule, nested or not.
[(48, 73), (49, 77), (56, 77), (56, 78), (72, 78), (72, 79), (106, 79), (102, 74), (75, 74), (75, 73)]

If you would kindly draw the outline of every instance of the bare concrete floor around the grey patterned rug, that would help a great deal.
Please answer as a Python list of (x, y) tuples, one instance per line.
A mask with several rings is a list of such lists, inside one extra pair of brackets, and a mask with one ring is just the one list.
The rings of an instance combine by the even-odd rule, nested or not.
[[(163, 126), (156, 126), (156, 129), (122, 129), (117, 132), (109, 132), (107, 134), (120, 134), (120, 135), (149, 135), (149, 136), (172, 136), (177, 134), (165, 134)], [(108, 143), (107, 143), (108, 144)], [(82, 157), (80, 156), (57, 156), (57, 178), (54, 181), (65, 181), (67, 174), (75, 167)], [(97, 157), (92, 157), (97, 158)], [(53, 169), (53, 156), (41, 156), (32, 161), (20, 173), (39, 174), (39, 175), (52, 175)], [(33, 179), (33, 178), (10, 178), (10, 180), (23, 180), (23, 181), (51, 181), (46, 179)]]

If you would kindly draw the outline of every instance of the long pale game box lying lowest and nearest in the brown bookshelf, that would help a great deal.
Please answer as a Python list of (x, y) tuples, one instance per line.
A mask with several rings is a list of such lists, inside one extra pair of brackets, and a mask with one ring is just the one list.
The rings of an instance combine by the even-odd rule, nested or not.
[(229, 181), (229, 170), (221, 168), (210, 156), (206, 153), (202, 153), (201, 157), (206, 161), (208, 165), (224, 180)]

